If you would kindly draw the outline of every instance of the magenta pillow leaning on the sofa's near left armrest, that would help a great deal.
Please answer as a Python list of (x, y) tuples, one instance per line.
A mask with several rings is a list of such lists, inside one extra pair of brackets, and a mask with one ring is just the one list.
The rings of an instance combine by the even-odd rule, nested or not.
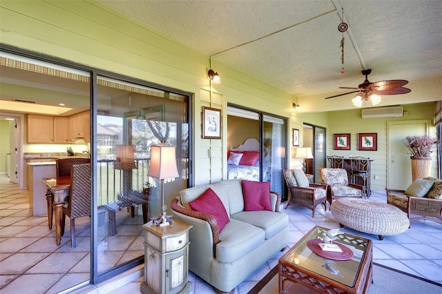
[(216, 219), (218, 224), (218, 232), (221, 232), (222, 228), (230, 222), (227, 210), (221, 202), (220, 197), (216, 195), (215, 191), (208, 188), (206, 192), (202, 193), (200, 197), (189, 202), (189, 205), (193, 210), (200, 213), (208, 213)]

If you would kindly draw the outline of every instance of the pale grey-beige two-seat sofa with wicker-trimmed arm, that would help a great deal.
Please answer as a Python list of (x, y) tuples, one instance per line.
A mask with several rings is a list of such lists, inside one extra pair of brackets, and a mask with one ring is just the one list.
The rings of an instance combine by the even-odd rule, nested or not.
[[(229, 216), (219, 233), (212, 215), (192, 210), (189, 205), (208, 188), (218, 195)], [(184, 189), (173, 199), (174, 217), (193, 226), (189, 232), (189, 270), (218, 293), (233, 293), (246, 277), (287, 246), (289, 217), (279, 212), (280, 195), (269, 193), (269, 197), (273, 211), (243, 211), (241, 180), (232, 179)]]

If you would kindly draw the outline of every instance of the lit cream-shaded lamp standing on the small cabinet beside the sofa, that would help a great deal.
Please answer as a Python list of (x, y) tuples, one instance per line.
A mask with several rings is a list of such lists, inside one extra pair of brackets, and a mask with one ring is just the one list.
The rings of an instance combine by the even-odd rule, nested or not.
[(157, 226), (169, 226), (169, 220), (166, 218), (167, 206), (164, 205), (164, 179), (179, 176), (174, 146), (165, 146), (164, 144), (151, 146), (151, 164), (147, 175), (161, 180), (162, 215), (155, 224)]

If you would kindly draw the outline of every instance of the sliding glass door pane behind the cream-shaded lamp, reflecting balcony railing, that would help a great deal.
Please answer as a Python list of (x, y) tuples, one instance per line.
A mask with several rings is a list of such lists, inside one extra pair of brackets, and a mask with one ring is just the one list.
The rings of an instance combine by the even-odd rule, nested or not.
[[(189, 97), (97, 77), (97, 271), (144, 255), (142, 224), (161, 213), (161, 182), (148, 177), (151, 145), (176, 147), (180, 177), (165, 179), (164, 203), (189, 179)], [(171, 214), (168, 207), (167, 214)]]

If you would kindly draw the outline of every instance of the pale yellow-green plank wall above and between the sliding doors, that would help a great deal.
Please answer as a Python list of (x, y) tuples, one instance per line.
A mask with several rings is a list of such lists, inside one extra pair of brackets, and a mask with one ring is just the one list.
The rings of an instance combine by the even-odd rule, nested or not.
[[(387, 119), (362, 121), (361, 110), (294, 112), (291, 105), (297, 101), (296, 97), (216, 60), (212, 60), (212, 68), (220, 73), (222, 84), (211, 88), (206, 77), (209, 56), (116, 14), (95, 1), (3, 0), (0, 2), (0, 15), (1, 43), (193, 93), (193, 169), (194, 172), (198, 170), (195, 173), (196, 185), (227, 178), (226, 155), (230, 146), (225, 126), (228, 103), (287, 117), (289, 130), (298, 128), (302, 132), (304, 122), (323, 126), (328, 128), (328, 141), (333, 133), (376, 131), (381, 135), (381, 140), (378, 139), (381, 148), (385, 148), (382, 144), (385, 144), (383, 136)], [(300, 104), (303, 108), (309, 110), (314, 106), (313, 101), (302, 99)], [(222, 139), (201, 138), (202, 106), (222, 110)], [(417, 117), (413, 115), (412, 106), (405, 108), (410, 113), (408, 119)], [(427, 112), (418, 116), (426, 115)], [(291, 132), (289, 134), (290, 142)], [(214, 150), (215, 156), (209, 157), (209, 150)], [(353, 150), (354, 146), (352, 154), (356, 155)], [(291, 153), (293, 148), (290, 148), (289, 158)], [(383, 160), (383, 164), (381, 159), (378, 161), (380, 164), (376, 163), (376, 173), (385, 168)], [(374, 184), (381, 188), (383, 182)]]

